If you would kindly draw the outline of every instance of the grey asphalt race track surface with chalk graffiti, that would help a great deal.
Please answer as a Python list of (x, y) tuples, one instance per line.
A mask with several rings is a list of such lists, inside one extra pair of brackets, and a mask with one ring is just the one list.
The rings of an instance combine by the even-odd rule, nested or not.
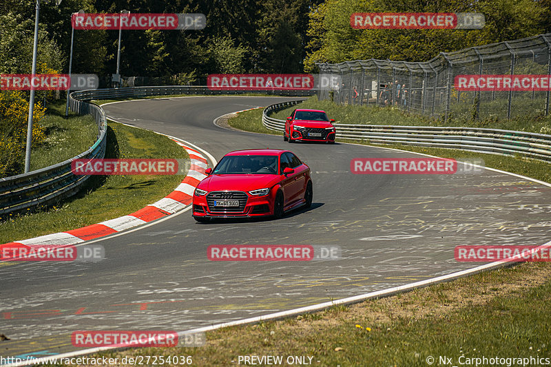
[[(187, 97), (106, 105), (107, 116), (187, 140), (217, 160), (284, 148), (312, 170), (313, 206), (281, 220), (198, 224), (186, 211), (96, 241), (101, 262), (0, 263), (1, 355), (75, 350), (73, 331), (174, 330), (265, 315), (426, 280), (480, 265), (454, 247), (550, 240), (551, 189), (484, 171), (355, 175), (352, 158), (417, 157), (360, 145), (284, 143), (230, 131), (218, 116), (296, 98)], [(14, 239), (15, 240), (15, 239)], [(341, 260), (210, 262), (211, 244), (338, 245)]]

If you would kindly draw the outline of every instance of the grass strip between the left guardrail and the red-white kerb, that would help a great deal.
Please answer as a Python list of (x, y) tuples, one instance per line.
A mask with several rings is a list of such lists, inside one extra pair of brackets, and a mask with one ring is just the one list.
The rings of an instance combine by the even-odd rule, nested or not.
[[(189, 158), (166, 136), (109, 123), (105, 158)], [(59, 206), (0, 220), (0, 243), (83, 227), (132, 213), (165, 197), (183, 180), (173, 176), (92, 176)]]

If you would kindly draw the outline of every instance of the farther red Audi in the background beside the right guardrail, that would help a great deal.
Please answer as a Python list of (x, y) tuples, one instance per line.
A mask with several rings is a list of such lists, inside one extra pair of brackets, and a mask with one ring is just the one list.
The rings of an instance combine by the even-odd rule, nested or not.
[(283, 140), (289, 143), (295, 141), (324, 141), (335, 143), (335, 120), (327, 118), (320, 109), (295, 109), (285, 121)]

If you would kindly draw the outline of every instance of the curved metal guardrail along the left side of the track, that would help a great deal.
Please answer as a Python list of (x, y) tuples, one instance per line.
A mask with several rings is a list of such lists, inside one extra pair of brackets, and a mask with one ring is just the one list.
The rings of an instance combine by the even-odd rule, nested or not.
[(209, 90), (206, 86), (169, 85), (158, 87), (125, 87), (103, 90), (83, 90), (72, 92), (69, 105), (77, 114), (90, 114), (98, 124), (96, 142), (90, 149), (64, 162), (37, 169), (28, 174), (0, 178), (0, 217), (9, 213), (20, 213), (40, 205), (52, 205), (79, 191), (90, 176), (76, 176), (71, 172), (72, 160), (79, 158), (103, 158), (107, 138), (105, 112), (90, 100), (107, 98), (140, 98), (145, 96), (165, 96), (174, 94), (245, 94), (260, 92), (278, 96), (311, 96), (315, 91), (220, 91)]

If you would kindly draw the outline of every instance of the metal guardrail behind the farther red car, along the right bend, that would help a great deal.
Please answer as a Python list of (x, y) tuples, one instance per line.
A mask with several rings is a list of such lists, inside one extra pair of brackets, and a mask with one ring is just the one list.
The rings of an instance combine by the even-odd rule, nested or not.
[[(283, 132), (284, 120), (269, 114), (301, 101), (278, 103), (264, 109), (262, 123), (268, 129)], [(334, 124), (337, 138), (369, 140), (376, 144), (418, 145), (477, 151), (487, 154), (518, 155), (551, 162), (551, 135), (473, 127), (433, 127), (395, 125)]]

